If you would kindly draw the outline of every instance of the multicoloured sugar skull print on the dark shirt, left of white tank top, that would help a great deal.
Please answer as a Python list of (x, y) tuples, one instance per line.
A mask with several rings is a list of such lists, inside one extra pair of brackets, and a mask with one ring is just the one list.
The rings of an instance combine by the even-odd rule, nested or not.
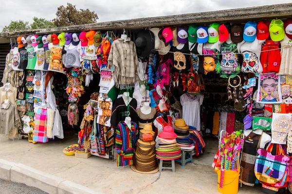
[(236, 71), (238, 66), (237, 55), (230, 51), (222, 51), (221, 71), (230, 74)]

